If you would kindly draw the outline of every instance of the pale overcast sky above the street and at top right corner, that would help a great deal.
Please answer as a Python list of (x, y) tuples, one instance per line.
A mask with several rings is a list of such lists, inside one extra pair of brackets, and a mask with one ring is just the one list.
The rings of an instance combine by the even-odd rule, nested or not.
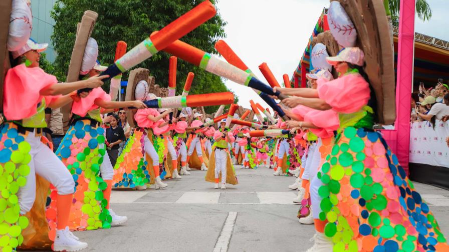
[[(415, 30), (449, 40), (449, 30), (442, 26), (447, 22), (447, 0), (427, 1), (432, 19), (423, 23), (416, 18)], [(328, 6), (329, 0), (219, 0), (217, 4), (228, 22), (223, 40), (264, 81), (259, 65), (267, 62), (279, 83), (284, 73), (292, 77), (314, 25)], [(253, 99), (268, 107), (250, 88), (229, 80), (226, 85), (239, 96), (240, 105), (250, 108)]]

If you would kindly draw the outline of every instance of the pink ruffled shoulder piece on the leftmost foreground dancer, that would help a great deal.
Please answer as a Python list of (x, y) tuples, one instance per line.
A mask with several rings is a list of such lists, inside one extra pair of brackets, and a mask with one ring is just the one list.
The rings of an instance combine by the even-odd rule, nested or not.
[[(3, 95), (3, 109), (6, 118), (21, 120), (36, 114), (37, 105), (44, 98), (40, 91), (57, 82), (55, 76), (46, 73), (39, 67), (26, 67), (25, 64), (20, 64), (9, 69), (5, 77)], [(51, 99), (46, 98), (46, 102)]]

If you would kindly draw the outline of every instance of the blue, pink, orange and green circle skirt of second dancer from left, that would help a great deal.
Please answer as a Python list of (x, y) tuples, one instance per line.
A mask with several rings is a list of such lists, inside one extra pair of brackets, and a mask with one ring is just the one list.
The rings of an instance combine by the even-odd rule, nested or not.
[[(91, 126), (90, 120), (79, 120), (70, 126), (56, 154), (67, 166), (75, 181), (75, 193), (69, 228), (92, 230), (109, 228), (112, 217), (106, 209), (103, 191), (107, 184), (100, 177), (105, 149), (105, 130)], [(52, 204), (56, 193), (51, 193)]]

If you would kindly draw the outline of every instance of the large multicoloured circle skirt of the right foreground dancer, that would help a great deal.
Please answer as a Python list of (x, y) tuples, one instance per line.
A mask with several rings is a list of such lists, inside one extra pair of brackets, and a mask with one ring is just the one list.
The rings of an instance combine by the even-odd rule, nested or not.
[(347, 127), (318, 172), (334, 251), (448, 251), (434, 215), (378, 132)]

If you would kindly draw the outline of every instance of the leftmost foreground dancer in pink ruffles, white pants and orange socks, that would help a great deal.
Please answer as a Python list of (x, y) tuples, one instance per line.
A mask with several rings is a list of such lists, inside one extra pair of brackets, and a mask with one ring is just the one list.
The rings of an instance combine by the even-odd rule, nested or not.
[[(60, 94), (80, 88), (99, 87), (103, 84), (102, 79), (107, 76), (58, 83), (55, 76), (39, 68), (40, 52), (47, 46), (48, 44), (38, 44), (29, 39), (23, 47), (12, 52), (13, 68), (8, 70), (5, 78), (3, 107), (6, 119), (1, 126), (4, 141), (0, 162), (5, 167), (5, 170), (2, 169), (4, 175), (13, 172), (15, 175), (14, 178), (10, 175), (13, 179), (9, 182), (3, 176), (5, 180), (0, 182), (2, 186), (9, 188), (9, 203), (6, 203), (5, 198), (0, 199), (6, 206), (4, 219), (7, 225), (11, 225), (9, 234), (4, 236), (9, 237), (8, 244), (2, 245), (4, 251), (11, 251), (24, 241), (21, 232), (28, 226), (28, 218), (32, 217), (27, 213), (32, 210), (37, 193), (45, 193), (45, 196), (48, 193), (48, 187), (36, 186), (36, 175), (49, 181), (57, 190), (56, 235), (50, 235), (50, 239), (54, 239), (53, 250), (75, 251), (87, 247), (87, 243), (79, 241), (68, 229), (75, 182), (67, 167), (52, 149), (42, 142), (45, 138), (42, 136), (43, 129), (47, 127), (44, 108), (57, 108), (69, 103), (72, 100), (71, 95)], [(81, 95), (85, 97), (87, 93)], [(2, 197), (5, 197), (5, 194), (2, 194)], [(38, 212), (45, 209), (45, 205), (35, 207), (38, 207)], [(39, 213), (39, 216), (42, 215), (42, 212)], [(48, 231), (46, 220), (45, 223), (40, 223), (42, 219), (32, 220), (33, 225), (42, 225), (36, 229), (44, 227), (42, 232)]]

